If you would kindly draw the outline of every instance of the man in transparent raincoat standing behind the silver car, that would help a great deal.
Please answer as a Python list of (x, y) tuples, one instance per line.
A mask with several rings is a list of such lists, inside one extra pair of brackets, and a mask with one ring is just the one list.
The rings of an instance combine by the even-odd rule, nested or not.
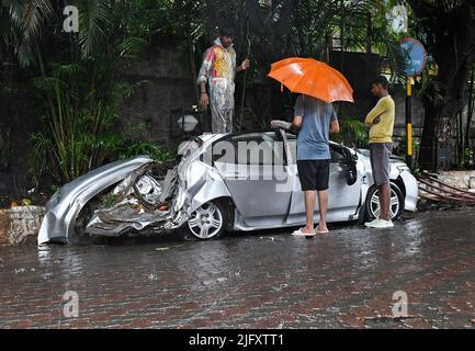
[[(201, 89), (200, 103), (203, 109), (211, 104), (212, 132), (233, 133), (235, 75), (249, 68), (249, 59), (236, 66), (233, 48), (233, 30), (220, 27), (219, 36), (205, 54), (197, 77)], [(208, 92), (206, 92), (206, 81)]]

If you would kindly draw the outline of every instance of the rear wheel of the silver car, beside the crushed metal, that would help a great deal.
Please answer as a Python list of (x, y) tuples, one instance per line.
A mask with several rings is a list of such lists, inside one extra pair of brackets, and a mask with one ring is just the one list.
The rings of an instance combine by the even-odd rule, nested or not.
[(211, 201), (193, 212), (185, 224), (184, 239), (212, 240), (226, 231), (228, 211), (224, 201)]

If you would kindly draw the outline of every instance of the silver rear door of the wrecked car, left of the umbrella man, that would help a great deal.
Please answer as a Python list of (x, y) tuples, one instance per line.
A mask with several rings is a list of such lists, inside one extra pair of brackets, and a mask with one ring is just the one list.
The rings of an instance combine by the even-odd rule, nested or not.
[(214, 165), (246, 224), (283, 224), (292, 188), (285, 186), (289, 183), (287, 166), (283, 144), (276, 140), (275, 133), (230, 136), (219, 143), (223, 141), (227, 145), (219, 148), (234, 150), (235, 155), (217, 157)]

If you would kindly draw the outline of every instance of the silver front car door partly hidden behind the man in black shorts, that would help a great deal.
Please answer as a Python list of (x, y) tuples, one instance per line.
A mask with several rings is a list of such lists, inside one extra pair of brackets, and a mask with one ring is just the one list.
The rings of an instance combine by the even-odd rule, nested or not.
[[(291, 149), (292, 161), (290, 161), (290, 170), (293, 177), (292, 199), (287, 216), (287, 224), (305, 223), (305, 202), (304, 192), (298, 180), (298, 171), (296, 165), (296, 137), (287, 135), (289, 146)], [(357, 181), (349, 185), (346, 174), (347, 156), (343, 147), (337, 144), (330, 144), (330, 177), (329, 177), (329, 193), (328, 193), (328, 222), (344, 222), (352, 219), (355, 214), (361, 196), (361, 174)], [(315, 204), (315, 220), (318, 222), (318, 201)]]

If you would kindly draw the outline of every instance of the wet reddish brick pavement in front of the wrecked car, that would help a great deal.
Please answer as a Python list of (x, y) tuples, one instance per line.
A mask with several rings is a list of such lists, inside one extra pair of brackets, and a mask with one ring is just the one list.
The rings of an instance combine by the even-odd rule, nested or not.
[(330, 229), (2, 247), (0, 328), (475, 327), (475, 210)]

